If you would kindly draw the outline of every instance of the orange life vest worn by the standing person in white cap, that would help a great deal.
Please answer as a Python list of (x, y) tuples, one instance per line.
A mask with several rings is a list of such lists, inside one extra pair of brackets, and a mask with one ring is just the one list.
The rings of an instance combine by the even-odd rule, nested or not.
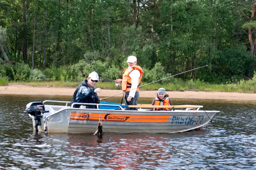
[[(135, 65), (134, 67), (132, 67), (131, 69), (126, 68), (123, 71), (123, 78), (122, 78), (122, 90), (123, 91), (129, 91), (131, 90), (132, 87), (132, 78), (129, 77), (129, 74), (132, 72), (132, 70), (139, 70), (140, 71), (140, 78), (139, 78), (139, 82), (138, 82), (138, 86), (140, 86), (140, 81), (142, 78), (142, 75), (144, 74), (144, 72), (142, 71), (140, 66)], [(136, 92), (139, 91), (140, 88), (136, 89)]]

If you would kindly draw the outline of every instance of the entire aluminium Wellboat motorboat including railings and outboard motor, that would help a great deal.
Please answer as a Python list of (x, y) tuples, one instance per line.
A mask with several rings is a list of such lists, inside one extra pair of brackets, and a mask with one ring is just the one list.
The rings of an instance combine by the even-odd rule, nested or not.
[[(45, 105), (46, 102), (66, 103), (65, 106)], [(69, 101), (45, 100), (31, 102), (26, 110), (32, 118), (36, 131), (54, 133), (94, 133), (99, 120), (102, 122), (103, 132), (132, 133), (175, 133), (184, 132), (204, 126), (220, 111), (199, 110), (203, 106), (178, 105), (157, 106), (158, 108), (172, 108), (170, 111), (150, 111), (156, 106), (138, 105), (128, 106), (117, 103), (100, 102), (73, 103)], [(97, 109), (75, 108), (73, 105), (96, 105)], [(138, 107), (138, 111), (124, 110), (124, 107)], [(176, 108), (183, 108), (177, 110)]]

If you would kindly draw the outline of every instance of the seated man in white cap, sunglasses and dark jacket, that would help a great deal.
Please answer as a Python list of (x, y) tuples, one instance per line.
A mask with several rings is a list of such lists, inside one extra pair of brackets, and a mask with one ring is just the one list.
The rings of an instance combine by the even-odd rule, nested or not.
[[(77, 103), (99, 103), (101, 99), (98, 98), (98, 93), (101, 92), (100, 88), (94, 89), (99, 81), (98, 73), (91, 72), (81, 85), (76, 88), (72, 97), (71, 105)], [(73, 107), (79, 108), (80, 104), (75, 104)], [(83, 105), (84, 106), (84, 105)], [(83, 107), (81, 106), (81, 107)], [(96, 105), (85, 105), (86, 108), (97, 108)], [(85, 108), (83, 107), (83, 108)]]

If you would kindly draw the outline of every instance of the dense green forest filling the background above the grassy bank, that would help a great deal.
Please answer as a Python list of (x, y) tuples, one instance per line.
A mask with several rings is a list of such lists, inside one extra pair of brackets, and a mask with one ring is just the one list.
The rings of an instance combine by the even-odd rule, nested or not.
[(208, 65), (180, 77), (248, 80), (256, 70), (255, 20), (254, 0), (0, 0), (0, 77), (25, 65), (45, 75), (101, 69), (118, 78), (135, 55), (152, 75)]

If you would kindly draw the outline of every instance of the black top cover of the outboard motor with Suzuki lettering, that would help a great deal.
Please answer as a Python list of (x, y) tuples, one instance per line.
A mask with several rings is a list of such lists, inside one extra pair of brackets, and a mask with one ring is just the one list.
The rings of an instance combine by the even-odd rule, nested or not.
[(27, 104), (26, 109), (24, 111), (32, 116), (38, 115), (39, 113), (45, 112), (44, 103), (42, 101), (30, 102)]

